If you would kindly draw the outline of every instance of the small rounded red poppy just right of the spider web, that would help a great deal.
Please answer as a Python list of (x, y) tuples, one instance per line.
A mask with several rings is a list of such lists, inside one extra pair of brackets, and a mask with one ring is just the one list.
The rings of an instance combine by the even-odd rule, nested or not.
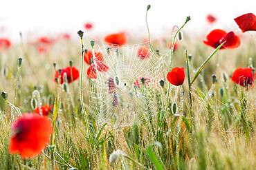
[(183, 67), (174, 67), (171, 72), (167, 73), (167, 81), (172, 85), (182, 85), (185, 80), (185, 72)]

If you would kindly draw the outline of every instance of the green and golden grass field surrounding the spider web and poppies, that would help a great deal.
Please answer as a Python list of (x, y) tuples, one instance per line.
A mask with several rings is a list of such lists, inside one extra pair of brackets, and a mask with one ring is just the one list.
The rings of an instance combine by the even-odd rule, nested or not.
[[(120, 125), (111, 118), (102, 122), (95, 118), (95, 114), (102, 114), (104, 120), (104, 114), (109, 113), (93, 110), (91, 114), (90, 87), (100, 85), (86, 76), (89, 66), (81, 60), (78, 35), (55, 42), (44, 54), (26, 41), (0, 52), (0, 90), (7, 94), (6, 100), (0, 98), (0, 169), (255, 169), (255, 87), (242, 87), (230, 79), (237, 67), (255, 65), (255, 36), (245, 33), (238, 48), (217, 51), (188, 85), (214, 49), (203, 44), (204, 36), (190, 36), (185, 28), (183, 33), (172, 63), (185, 68), (183, 85), (176, 87), (166, 79), (172, 54), (165, 52), (170, 51), (167, 44), (174, 37), (146, 43), (159, 50), (154, 52), (155, 59), (164, 59), (157, 73), (164, 85), (154, 83), (138, 89), (143, 95), (142, 104), (136, 107), (138, 115), (133, 113), (131, 121)], [(129, 41), (137, 39), (129, 37)], [(83, 49), (93, 46), (86, 39), (83, 43)], [(95, 41), (95, 50), (98, 45), (102, 44)], [(100, 49), (107, 50), (104, 47), (107, 45)], [(80, 72), (82, 61), (83, 79), (65, 85), (55, 83), (56, 70), (67, 67), (70, 61)], [(105, 102), (111, 100), (104, 93), (95, 93), (102, 94)], [(152, 100), (155, 105), (148, 106)], [(53, 105), (48, 116), (54, 129), (51, 143), (34, 158), (10, 154), (11, 125), (19, 111), (31, 113), (35, 105), (42, 104)], [(99, 110), (104, 107), (101, 102), (93, 104)], [(125, 107), (120, 112), (116, 117), (121, 119), (131, 114)]]

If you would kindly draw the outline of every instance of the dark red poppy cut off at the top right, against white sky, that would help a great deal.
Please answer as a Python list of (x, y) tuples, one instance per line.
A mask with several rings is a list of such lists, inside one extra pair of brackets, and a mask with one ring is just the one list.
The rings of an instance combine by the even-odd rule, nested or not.
[(253, 13), (243, 14), (234, 20), (241, 32), (256, 31), (256, 16)]

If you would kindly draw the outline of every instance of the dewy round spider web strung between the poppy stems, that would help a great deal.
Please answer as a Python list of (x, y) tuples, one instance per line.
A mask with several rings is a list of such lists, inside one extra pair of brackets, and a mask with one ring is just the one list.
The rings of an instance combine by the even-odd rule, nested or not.
[[(89, 44), (86, 47), (91, 50)], [(97, 78), (89, 79), (86, 84), (89, 111), (98, 125), (122, 127), (156, 115), (159, 82), (165, 79), (165, 57), (149, 50), (149, 57), (141, 59), (138, 57), (141, 47), (149, 45), (113, 46), (95, 41), (94, 51), (103, 54), (104, 64), (109, 67), (107, 72), (96, 69)]]

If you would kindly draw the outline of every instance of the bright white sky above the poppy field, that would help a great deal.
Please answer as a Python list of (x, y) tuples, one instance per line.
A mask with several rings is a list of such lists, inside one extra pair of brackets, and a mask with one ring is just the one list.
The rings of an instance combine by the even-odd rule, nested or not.
[(163, 34), (181, 25), (190, 15), (188, 30), (207, 30), (206, 14), (214, 14), (214, 28), (236, 28), (233, 19), (240, 14), (256, 13), (256, 0), (0, 0), (0, 36), (19, 38), (19, 32), (77, 32), (83, 23), (95, 25), (94, 32), (146, 32), (145, 11), (149, 10), (152, 34)]

